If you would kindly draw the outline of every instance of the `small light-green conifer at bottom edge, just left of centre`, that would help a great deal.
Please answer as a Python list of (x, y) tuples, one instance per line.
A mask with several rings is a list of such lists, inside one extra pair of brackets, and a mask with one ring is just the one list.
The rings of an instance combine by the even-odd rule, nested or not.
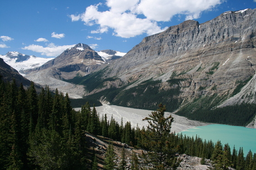
[(116, 159), (116, 154), (114, 152), (113, 146), (110, 144), (107, 147), (107, 151), (105, 154), (104, 169), (105, 170), (114, 170), (116, 168), (115, 159)]

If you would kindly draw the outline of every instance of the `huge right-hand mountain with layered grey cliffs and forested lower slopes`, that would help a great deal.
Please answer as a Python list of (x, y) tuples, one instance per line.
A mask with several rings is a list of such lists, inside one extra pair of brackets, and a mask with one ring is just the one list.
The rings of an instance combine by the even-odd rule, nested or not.
[(255, 18), (256, 9), (244, 9), (201, 24), (186, 20), (145, 37), (122, 58), (73, 82), (110, 104), (153, 109), (163, 102), (168, 111), (209, 121), (220, 108), (255, 103)]

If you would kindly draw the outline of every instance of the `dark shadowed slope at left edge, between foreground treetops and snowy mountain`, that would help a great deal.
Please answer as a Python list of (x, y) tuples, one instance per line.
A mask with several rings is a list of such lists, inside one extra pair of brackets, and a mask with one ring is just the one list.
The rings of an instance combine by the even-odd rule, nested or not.
[(20, 75), (17, 70), (6, 64), (2, 58), (0, 58), (0, 75), (2, 76), (1, 79), (5, 82), (10, 82), (13, 79), (16, 79), (16, 84), (18, 86), (21, 83), (24, 87), (28, 87), (31, 84), (31, 81), (23, 78), (23, 76)]

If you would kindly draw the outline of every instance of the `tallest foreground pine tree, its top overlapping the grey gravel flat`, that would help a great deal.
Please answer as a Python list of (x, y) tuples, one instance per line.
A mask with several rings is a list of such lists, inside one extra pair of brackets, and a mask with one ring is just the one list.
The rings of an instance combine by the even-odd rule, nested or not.
[[(174, 148), (170, 143), (170, 131), (173, 117), (165, 117), (166, 107), (159, 104), (157, 111), (152, 111), (146, 120), (149, 123), (144, 143), (149, 148), (150, 152), (143, 154), (146, 162), (152, 163), (154, 169), (175, 169), (179, 162), (176, 161)], [(145, 135), (145, 134), (144, 134)]]

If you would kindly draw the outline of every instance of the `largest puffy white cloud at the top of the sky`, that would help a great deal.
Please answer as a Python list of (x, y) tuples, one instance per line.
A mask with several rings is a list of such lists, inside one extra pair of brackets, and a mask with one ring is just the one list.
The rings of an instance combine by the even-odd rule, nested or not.
[[(186, 19), (196, 19), (201, 12), (213, 9), (224, 0), (107, 0), (109, 11), (99, 11), (102, 3), (86, 8), (84, 13), (71, 15), (72, 21), (82, 20), (86, 25), (99, 25), (91, 33), (106, 33), (113, 29), (113, 35), (130, 38), (146, 33), (152, 35), (162, 32), (157, 22), (168, 22), (176, 14)], [(256, 0), (254, 0), (256, 1)], [(141, 18), (139, 15), (143, 15)]]

